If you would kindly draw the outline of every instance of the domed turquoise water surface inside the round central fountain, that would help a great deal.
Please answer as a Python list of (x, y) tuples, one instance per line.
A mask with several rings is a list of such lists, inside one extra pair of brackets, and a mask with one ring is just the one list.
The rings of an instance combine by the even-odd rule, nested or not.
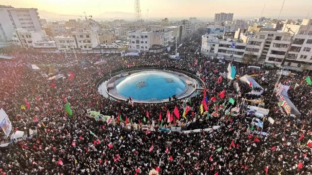
[(186, 88), (177, 75), (157, 71), (141, 71), (117, 82), (117, 92), (125, 98), (134, 100), (163, 100), (182, 93)]

